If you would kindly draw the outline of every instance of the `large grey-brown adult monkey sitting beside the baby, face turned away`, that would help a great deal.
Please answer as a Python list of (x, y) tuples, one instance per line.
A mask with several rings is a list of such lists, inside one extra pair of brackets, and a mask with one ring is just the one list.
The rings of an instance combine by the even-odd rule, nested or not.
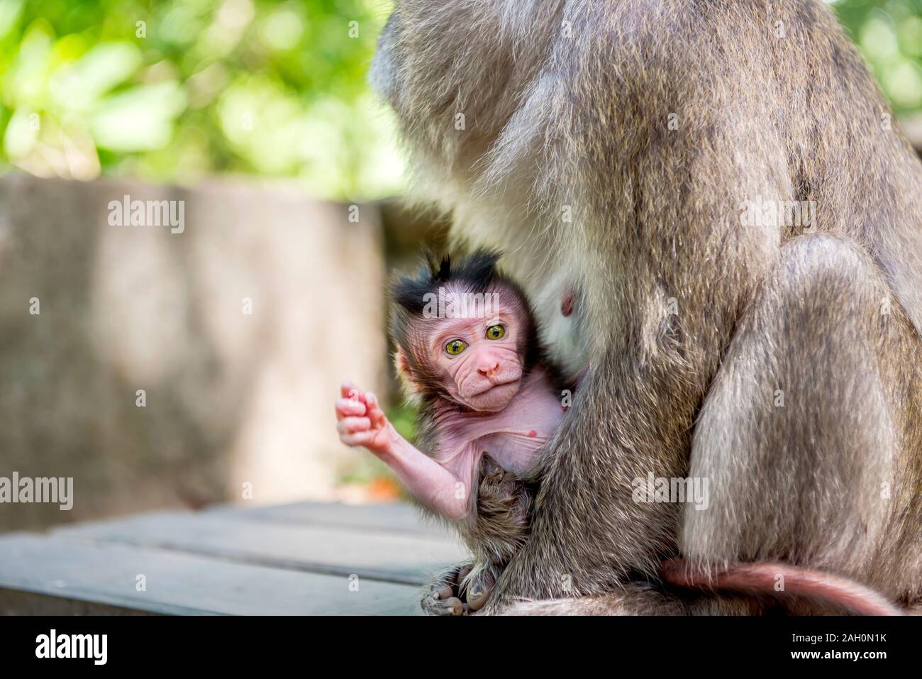
[[(676, 554), (919, 602), (922, 166), (826, 7), (396, 0), (372, 81), (455, 238), (588, 361), (488, 611), (762, 611), (644, 584)], [(649, 472), (709, 507), (634, 502)]]

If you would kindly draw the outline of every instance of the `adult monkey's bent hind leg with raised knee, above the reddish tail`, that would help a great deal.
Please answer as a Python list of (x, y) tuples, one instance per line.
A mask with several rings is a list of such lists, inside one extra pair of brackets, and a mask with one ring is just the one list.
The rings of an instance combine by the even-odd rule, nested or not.
[(827, 235), (785, 244), (695, 428), (690, 476), (710, 502), (686, 506), (682, 554), (830, 569), (908, 602), (920, 397), (919, 338), (870, 256)]

